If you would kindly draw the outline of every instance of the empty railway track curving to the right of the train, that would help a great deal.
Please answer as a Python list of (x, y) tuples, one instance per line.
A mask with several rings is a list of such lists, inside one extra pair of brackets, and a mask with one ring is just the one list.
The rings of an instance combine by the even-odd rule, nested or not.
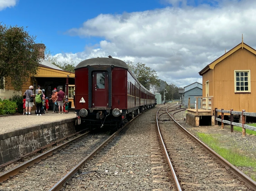
[(172, 116), (175, 112), (162, 107), (156, 120), (171, 178), (178, 191), (256, 190), (252, 179), (179, 125)]

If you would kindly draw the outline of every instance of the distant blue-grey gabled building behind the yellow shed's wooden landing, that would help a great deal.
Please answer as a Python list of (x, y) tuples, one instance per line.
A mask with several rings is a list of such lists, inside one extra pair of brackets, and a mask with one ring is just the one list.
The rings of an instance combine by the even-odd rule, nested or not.
[(195, 82), (184, 87), (184, 105), (188, 105), (188, 98), (190, 98), (190, 105), (194, 107), (195, 97), (198, 96), (203, 96), (203, 85), (201, 83)]

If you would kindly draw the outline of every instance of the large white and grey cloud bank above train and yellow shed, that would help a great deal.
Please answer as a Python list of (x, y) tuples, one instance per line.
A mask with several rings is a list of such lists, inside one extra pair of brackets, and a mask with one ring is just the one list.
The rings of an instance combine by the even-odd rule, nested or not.
[[(170, 3), (179, 3), (171, 0)], [(185, 1), (184, 1), (185, 2)], [(216, 1), (215, 1), (216, 2)], [(68, 31), (80, 37), (101, 37), (99, 48), (59, 54), (79, 61), (109, 54), (144, 62), (160, 79), (177, 86), (202, 82), (198, 72), (241, 42), (256, 47), (254, 0), (222, 0), (217, 7), (167, 7), (143, 12), (100, 14)]]

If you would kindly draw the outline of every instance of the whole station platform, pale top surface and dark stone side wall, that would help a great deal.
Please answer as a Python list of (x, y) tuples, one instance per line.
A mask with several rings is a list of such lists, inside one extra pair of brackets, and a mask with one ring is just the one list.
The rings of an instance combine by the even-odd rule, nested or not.
[(76, 132), (76, 113), (0, 117), (0, 165)]

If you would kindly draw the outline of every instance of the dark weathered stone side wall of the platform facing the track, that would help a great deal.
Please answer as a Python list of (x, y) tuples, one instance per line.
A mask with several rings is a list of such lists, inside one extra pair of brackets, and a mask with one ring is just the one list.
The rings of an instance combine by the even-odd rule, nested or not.
[(76, 119), (34, 125), (0, 134), (0, 164), (75, 133)]

